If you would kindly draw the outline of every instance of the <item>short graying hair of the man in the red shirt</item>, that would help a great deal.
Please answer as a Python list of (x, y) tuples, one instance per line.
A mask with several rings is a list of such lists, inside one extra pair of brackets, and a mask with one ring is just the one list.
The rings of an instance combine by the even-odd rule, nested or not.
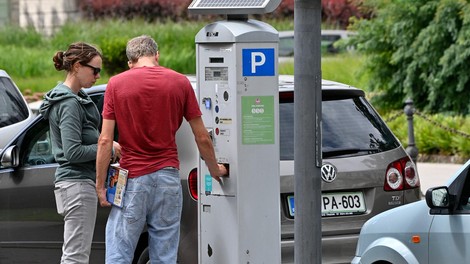
[(155, 56), (157, 52), (157, 42), (150, 36), (142, 35), (127, 42), (126, 55), (130, 62), (135, 63), (139, 58)]

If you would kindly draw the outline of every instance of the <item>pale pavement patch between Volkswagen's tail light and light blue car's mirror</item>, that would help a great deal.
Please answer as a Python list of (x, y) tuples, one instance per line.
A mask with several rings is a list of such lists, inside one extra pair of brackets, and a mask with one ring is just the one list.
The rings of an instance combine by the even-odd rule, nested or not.
[(417, 162), (416, 166), (421, 181), (421, 192), (426, 194), (431, 187), (445, 185), (463, 164)]

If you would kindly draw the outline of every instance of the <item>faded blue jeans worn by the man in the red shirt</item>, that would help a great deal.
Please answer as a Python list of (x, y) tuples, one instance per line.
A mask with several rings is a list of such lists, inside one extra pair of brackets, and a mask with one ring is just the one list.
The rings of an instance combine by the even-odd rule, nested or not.
[(128, 179), (124, 206), (122, 209), (113, 206), (106, 224), (106, 263), (131, 263), (145, 227), (149, 234), (150, 263), (176, 263), (181, 192), (175, 168)]

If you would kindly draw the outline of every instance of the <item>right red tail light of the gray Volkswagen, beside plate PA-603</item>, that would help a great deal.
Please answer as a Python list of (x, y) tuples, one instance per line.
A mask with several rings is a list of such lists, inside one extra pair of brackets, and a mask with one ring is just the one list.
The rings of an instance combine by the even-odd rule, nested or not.
[(388, 165), (385, 173), (385, 191), (398, 191), (420, 186), (415, 164), (409, 157), (394, 161)]

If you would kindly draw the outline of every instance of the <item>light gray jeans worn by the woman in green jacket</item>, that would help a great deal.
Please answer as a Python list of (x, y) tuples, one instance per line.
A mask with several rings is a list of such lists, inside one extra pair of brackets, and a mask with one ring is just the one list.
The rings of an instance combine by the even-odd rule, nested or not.
[(55, 184), (57, 213), (64, 217), (61, 264), (88, 264), (95, 229), (98, 198), (95, 183), (61, 181)]

